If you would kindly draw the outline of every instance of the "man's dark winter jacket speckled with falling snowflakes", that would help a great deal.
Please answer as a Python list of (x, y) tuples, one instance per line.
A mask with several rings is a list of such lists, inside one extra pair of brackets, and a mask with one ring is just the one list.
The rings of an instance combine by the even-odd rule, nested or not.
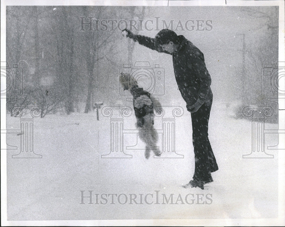
[[(170, 54), (156, 44), (155, 38), (135, 35), (133, 39), (150, 49)], [(178, 88), (186, 104), (190, 106), (198, 102), (202, 105), (213, 98), (211, 76), (206, 68), (204, 55), (184, 36), (178, 36), (178, 41), (178, 50), (171, 54)]]

